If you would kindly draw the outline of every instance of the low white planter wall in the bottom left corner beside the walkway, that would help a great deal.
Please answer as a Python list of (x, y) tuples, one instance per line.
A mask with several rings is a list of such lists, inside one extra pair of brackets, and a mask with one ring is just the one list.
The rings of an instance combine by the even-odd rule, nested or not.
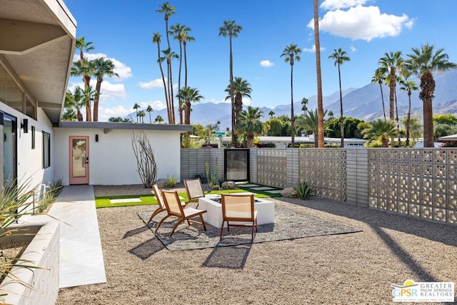
[[(29, 221), (33, 221), (33, 217)], [(21, 259), (31, 262), (19, 264), (38, 266), (40, 269), (11, 269), (11, 274), (33, 289), (7, 278), (0, 284), (0, 294), (7, 294), (0, 301), (16, 305), (55, 304), (59, 294), (59, 221), (31, 223), (19, 227), (26, 227), (27, 232), (33, 235), (11, 237), (2, 240), (1, 243), (9, 244), (31, 239), (21, 256)]]

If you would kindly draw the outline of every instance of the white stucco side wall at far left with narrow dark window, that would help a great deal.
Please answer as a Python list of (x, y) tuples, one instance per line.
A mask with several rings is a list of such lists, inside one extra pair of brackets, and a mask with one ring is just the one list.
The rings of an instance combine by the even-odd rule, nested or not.
[[(41, 109), (38, 109), (37, 121), (3, 103), (0, 103), (0, 110), (17, 118), (17, 177), (19, 184), (23, 181), (28, 181), (29, 178), (30, 186), (48, 184), (50, 181), (53, 181), (54, 170), (52, 163), (49, 168), (43, 169), (42, 131), (46, 131), (51, 135), (51, 159), (53, 158), (53, 131), (51, 121), (49, 121)], [(27, 134), (21, 129), (23, 119), (29, 120), (29, 132)], [(31, 149), (31, 126), (35, 127), (35, 149)]]

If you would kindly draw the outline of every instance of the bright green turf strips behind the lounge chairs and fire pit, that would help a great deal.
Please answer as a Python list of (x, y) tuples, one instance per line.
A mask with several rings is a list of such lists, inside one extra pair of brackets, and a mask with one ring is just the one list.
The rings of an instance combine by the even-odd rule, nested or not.
[[(205, 194), (221, 194), (221, 193), (244, 193), (247, 192), (243, 189), (224, 189), (220, 191), (206, 191)], [(257, 193), (258, 191), (253, 190), (252, 193)], [(179, 196), (183, 197), (184, 200), (187, 200), (186, 193), (178, 193)], [(268, 198), (267, 194), (255, 194), (254, 196), (258, 198)], [(129, 198), (139, 198), (141, 202), (132, 201), (132, 202), (122, 202), (119, 204), (111, 204), (109, 199), (129, 199)], [(131, 196), (103, 196), (103, 197), (96, 197), (95, 199), (95, 207), (98, 208), (113, 208), (116, 206), (143, 206), (143, 205), (151, 205), (157, 204), (156, 196), (153, 195), (131, 195)]]

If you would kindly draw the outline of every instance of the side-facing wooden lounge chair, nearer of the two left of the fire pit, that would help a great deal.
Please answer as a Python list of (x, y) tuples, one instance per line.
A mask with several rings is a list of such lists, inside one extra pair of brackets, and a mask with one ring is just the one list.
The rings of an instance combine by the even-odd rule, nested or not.
[[(179, 221), (175, 224), (173, 231), (171, 231), (171, 235), (174, 234), (176, 228), (182, 224), (184, 221), (187, 221), (189, 226), (192, 224), (201, 224), (203, 229), (206, 231), (205, 221), (203, 219), (203, 214), (206, 213), (205, 210), (199, 210), (194, 208), (183, 208), (181, 205), (181, 201), (179, 201), (179, 195), (176, 191), (165, 191), (162, 190), (162, 197), (164, 198), (164, 204), (166, 206), (166, 211), (168, 211), (168, 215), (164, 217), (157, 226), (156, 231), (159, 229), (161, 224), (164, 222), (165, 219), (169, 218), (169, 216), (176, 216), (179, 218)], [(200, 221), (192, 220), (192, 217), (200, 216)]]

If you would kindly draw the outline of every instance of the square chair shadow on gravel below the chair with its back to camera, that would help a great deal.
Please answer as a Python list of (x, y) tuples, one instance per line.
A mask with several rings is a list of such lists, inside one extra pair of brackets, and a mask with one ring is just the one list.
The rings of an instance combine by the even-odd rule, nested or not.
[(202, 266), (209, 268), (243, 269), (252, 244), (216, 246)]

